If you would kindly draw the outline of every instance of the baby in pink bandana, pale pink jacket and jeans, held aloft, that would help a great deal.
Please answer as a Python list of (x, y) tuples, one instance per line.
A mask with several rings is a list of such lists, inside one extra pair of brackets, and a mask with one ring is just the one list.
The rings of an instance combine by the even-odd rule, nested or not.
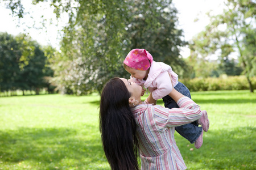
[[(123, 61), (123, 66), (131, 74), (133, 82), (148, 88), (150, 91), (151, 94), (144, 101), (145, 103), (154, 103), (155, 100), (162, 98), (166, 108), (179, 108), (174, 99), (168, 95), (173, 87), (184, 96), (191, 98), (188, 88), (178, 81), (178, 75), (172, 71), (171, 66), (163, 62), (155, 62), (151, 54), (145, 49), (131, 50)], [(203, 116), (199, 120), (175, 127), (181, 136), (188, 139), (189, 142), (195, 143), (196, 148), (203, 145), (202, 129), (205, 132), (209, 129), (206, 111), (203, 111)]]

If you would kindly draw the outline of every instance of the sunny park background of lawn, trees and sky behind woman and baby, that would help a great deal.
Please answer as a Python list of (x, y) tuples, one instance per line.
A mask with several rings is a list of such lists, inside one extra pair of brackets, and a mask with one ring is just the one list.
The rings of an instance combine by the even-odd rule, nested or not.
[[(254, 1), (223, 1), (218, 12), (199, 14), (208, 22), (191, 39), (184, 34), (192, 26), (181, 28), (172, 1), (0, 5), (22, 28), (0, 33), (0, 169), (109, 169), (98, 131), (100, 94), (113, 76), (129, 78), (122, 61), (133, 48), (171, 65), (208, 111), (202, 148), (175, 135), (188, 169), (256, 168)], [(38, 17), (31, 9), (52, 12)], [(52, 27), (59, 32), (52, 44), (32, 35), (36, 29), (51, 37)]]

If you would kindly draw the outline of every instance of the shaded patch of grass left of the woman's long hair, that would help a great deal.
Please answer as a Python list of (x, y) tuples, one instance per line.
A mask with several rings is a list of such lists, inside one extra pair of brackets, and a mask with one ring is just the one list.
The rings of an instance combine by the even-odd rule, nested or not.
[[(96, 127), (86, 125), (86, 128)], [(83, 133), (77, 134), (76, 130), (61, 128), (0, 131), (0, 160), (7, 164), (28, 161), (34, 164), (32, 169), (35, 165), (39, 166), (38, 169), (89, 169), (93, 164), (106, 163), (98, 133)]]

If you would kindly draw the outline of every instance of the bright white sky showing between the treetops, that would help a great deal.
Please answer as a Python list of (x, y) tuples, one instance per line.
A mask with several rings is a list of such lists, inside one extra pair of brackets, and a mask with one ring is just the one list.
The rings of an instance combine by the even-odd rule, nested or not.
[[(206, 17), (205, 13), (212, 10), (214, 14), (218, 14), (222, 11), (223, 8), (223, 0), (173, 0), (174, 6), (178, 10), (178, 18), (179, 25), (177, 28), (183, 29), (184, 31), (184, 39), (189, 41), (195, 36), (197, 33), (204, 30), (205, 26), (209, 23), (209, 19)], [(58, 34), (58, 30), (60, 30), (65, 23), (67, 23), (67, 19), (65, 20), (65, 16), (63, 16), (63, 20), (55, 19), (55, 15), (53, 14), (53, 8), (50, 8), (49, 5), (45, 3), (40, 3), (38, 6), (32, 6), (31, 0), (22, 1), (25, 9), (34, 16), (35, 20), (40, 20), (40, 16), (44, 15), (48, 20), (52, 20), (52, 23), (46, 23), (46, 29), (29, 29), (30, 36), (32, 39), (39, 42), (41, 45), (52, 45), (55, 48), (59, 48), (59, 39), (60, 35)], [(43, 10), (42, 10), (43, 8)], [(10, 10), (0, 6), (0, 32), (7, 32), (12, 35), (18, 35), (18, 33), (23, 33), (25, 27), (16, 27), (16, 20), (10, 15)], [(197, 19), (197, 22), (194, 22)], [(24, 25), (26, 22), (27, 25), (32, 27), (32, 19), (25, 18), (22, 20), (22, 24)], [(38, 22), (39, 23), (39, 22)], [(40, 25), (35, 25), (39, 27)], [(181, 48), (181, 56), (184, 58), (188, 57), (190, 50), (187, 47)]]

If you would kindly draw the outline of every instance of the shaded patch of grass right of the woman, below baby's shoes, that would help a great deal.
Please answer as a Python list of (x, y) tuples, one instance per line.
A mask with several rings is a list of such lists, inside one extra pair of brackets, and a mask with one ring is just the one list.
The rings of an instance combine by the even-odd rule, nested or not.
[(175, 140), (188, 169), (256, 169), (255, 131), (252, 127), (209, 129), (199, 149), (177, 133)]

